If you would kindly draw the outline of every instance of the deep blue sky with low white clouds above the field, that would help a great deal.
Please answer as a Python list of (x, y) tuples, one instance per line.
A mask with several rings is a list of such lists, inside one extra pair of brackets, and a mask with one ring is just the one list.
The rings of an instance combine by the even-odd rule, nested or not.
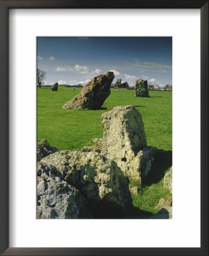
[(170, 37), (39, 37), (37, 68), (46, 72), (45, 84), (85, 85), (93, 77), (113, 71), (115, 78), (135, 85), (172, 84)]

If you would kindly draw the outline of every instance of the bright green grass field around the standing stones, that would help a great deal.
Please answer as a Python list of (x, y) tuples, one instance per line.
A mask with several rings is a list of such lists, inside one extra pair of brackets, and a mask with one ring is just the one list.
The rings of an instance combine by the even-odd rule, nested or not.
[(92, 146), (92, 138), (103, 137), (101, 114), (115, 106), (136, 106), (142, 114), (148, 146), (165, 152), (155, 160), (146, 184), (139, 186), (139, 195), (133, 195), (133, 203), (137, 208), (156, 213), (159, 199), (170, 196), (163, 189), (163, 177), (172, 166), (172, 92), (150, 91), (150, 98), (143, 98), (134, 97), (134, 90), (111, 89), (102, 110), (62, 109), (81, 89), (59, 86), (53, 92), (50, 88), (37, 88), (37, 142), (46, 139), (59, 150), (80, 151), (83, 146)]

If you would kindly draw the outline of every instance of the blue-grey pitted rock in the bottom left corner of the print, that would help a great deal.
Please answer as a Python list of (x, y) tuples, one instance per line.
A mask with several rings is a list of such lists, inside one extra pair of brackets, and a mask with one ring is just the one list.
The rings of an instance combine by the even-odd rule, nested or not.
[[(38, 163), (37, 218), (88, 218), (86, 200), (54, 171)], [(60, 176), (60, 175), (59, 175)]]

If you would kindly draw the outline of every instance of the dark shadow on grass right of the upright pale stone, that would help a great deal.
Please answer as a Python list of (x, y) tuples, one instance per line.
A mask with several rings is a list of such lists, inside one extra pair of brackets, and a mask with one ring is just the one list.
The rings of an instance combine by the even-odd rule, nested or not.
[(165, 171), (172, 166), (172, 151), (159, 152), (153, 161), (153, 168), (144, 180), (144, 185), (158, 183), (165, 175)]

